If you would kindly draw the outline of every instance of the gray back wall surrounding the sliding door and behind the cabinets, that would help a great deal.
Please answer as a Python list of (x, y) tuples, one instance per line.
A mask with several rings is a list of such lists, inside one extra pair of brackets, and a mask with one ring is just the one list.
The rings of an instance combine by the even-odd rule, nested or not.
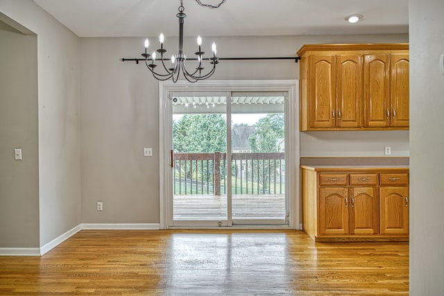
[[(157, 37), (151, 38), (155, 44)], [(205, 37), (221, 57), (295, 56), (302, 44), (408, 42), (407, 35)], [(82, 38), (82, 222), (160, 223), (158, 82), (139, 57), (144, 38)], [(194, 38), (185, 51), (194, 52)], [(167, 38), (175, 50), (176, 39)], [(223, 61), (212, 79), (295, 79), (287, 61)], [(301, 134), (302, 156), (409, 155), (409, 132), (315, 132)], [(154, 157), (143, 157), (153, 147)], [(96, 211), (96, 202), (103, 211)]]

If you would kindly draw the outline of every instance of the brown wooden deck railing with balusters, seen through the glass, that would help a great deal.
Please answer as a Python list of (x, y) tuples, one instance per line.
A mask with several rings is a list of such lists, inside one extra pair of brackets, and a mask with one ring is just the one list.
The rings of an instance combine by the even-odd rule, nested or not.
[[(283, 194), (284, 153), (232, 153), (233, 194)], [(174, 153), (174, 193), (227, 193), (226, 153)]]

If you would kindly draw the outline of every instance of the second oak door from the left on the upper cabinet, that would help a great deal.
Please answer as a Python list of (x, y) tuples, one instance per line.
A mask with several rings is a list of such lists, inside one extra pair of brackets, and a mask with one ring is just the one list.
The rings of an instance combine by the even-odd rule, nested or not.
[(360, 128), (362, 55), (337, 55), (336, 60), (336, 125), (341, 128)]

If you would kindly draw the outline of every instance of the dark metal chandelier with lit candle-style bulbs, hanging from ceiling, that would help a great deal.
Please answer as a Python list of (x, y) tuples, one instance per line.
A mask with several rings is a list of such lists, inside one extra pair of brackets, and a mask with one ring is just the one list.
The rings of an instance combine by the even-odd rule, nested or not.
[[(216, 6), (203, 4), (200, 2), (200, 0), (196, 0), (196, 2), (200, 6), (205, 6), (208, 8), (218, 8), (219, 6), (221, 6), (222, 3), (225, 2), (225, 0), (222, 0), (221, 3), (219, 3)], [(189, 59), (189, 60), (196, 60), (197, 67), (195, 69), (193, 69), (192, 71), (187, 70), (187, 68), (185, 67), (185, 61), (187, 60), (187, 55), (185, 55), (185, 53), (183, 52), (183, 24), (184, 24), (184, 19), (185, 19), (185, 17), (187, 17), (187, 15), (185, 15), (185, 13), (184, 13), (185, 8), (183, 7), (182, 0), (180, 0), (180, 6), (179, 6), (178, 10), (179, 10), (179, 12), (176, 15), (176, 17), (178, 17), (178, 19), (179, 19), (179, 49), (178, 49), (178, 53), (176, 55), (171, 55), (171, 59), (169, 59), (169, 61), (166, 62), (164, 60), (164, 56), (166, 55), (167, 50), (164, 49), (164, 40), (165, 40), (164, 35), (161, 33), (159, 36), (160, 49), (153, 51), (152, 54), (148, 53), (149, 41), (148, 41), (148, 39), (146, 39), (145, 44), (144, 44), (145, 45), (145, 52), (142, 53), (142, 57), (144, 57), (144, 59), (145, 59), (146, 67), (148, 68), (149, 71), (151, 71), (151, 73), (153, 73), (154, 78), (156, 78), (157, 80), (169, 80), (170, 78), (172, 78), (173, 82), (177, 82), (177, 80), (180, 76), (180, 72), (182, 72), (182, 75), (189, 82), (196, 82), (198, 80), (207, 79), (214, 74), (214, 71), (216, 70), (216, 64), (219, 63), (219, 58), (216, 57), (216, 44), (214, 42), (212, 44), (212, 57), (205, 59), (205, 60), (210, 61), (210, 64), (212, 65), (212, 67), (211, 67), (210, 71), (207, 71), (206, 73), (204, 73), (204, 71), (203, 71), (204, 70), (203, 55), (205, 54), (205, 52), (202, 51), (202, 49), (201, 49), (202, 38), (200, 36), (198, 36), (197, 37), (198, 51), (196, 51), (196, 53), (194, 53), (197, 56), (197, 58)], [(160, 55), (159, 62), (158, 62), (159, 64), (161, 64), (160, 72), (155, 71), (155, 68), (157, 67), (157, 64), (156, 64), (157, 63), (157, 60), (156, 60), (157, 54)], [(167, 66), (167, 64), (171, 64), (171, 67)]]

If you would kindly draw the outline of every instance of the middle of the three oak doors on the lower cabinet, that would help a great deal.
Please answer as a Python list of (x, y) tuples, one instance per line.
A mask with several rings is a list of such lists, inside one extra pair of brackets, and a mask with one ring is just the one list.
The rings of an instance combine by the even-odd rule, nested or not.
[(350, 188), (350, 234), (377, 234), (379, 200), (377, 187)]

